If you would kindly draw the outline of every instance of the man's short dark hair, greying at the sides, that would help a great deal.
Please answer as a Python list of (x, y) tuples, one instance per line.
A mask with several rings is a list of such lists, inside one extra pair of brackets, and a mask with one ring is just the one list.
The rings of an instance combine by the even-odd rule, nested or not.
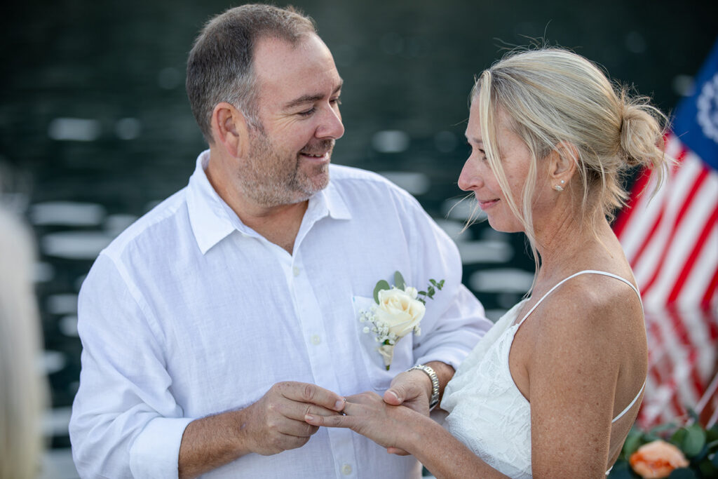
[(293, 7), (280, 9), (248, 4), (228, 9), (210, 19), (187, 58), (187, 97), (192, 113), (209, 144), (212, 112), (223, 101), (242, 111), (250, 127), (257, 117), (253, 53), (258, 39), (274, 37), (297, 45), (304, 35), (316, 33), (314, 21)]

